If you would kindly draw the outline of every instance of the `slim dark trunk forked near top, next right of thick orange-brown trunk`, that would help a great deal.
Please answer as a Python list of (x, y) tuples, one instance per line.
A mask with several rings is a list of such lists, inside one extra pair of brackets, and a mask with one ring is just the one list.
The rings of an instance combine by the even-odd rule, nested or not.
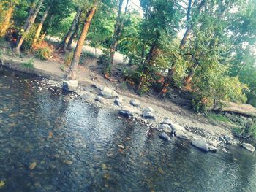
[(124, 15), (121, 18), (121, 8), (123, 6), (123, 3), (124, 3), (124, 0), (119, 0), (118, 15), (116, 18), (116, 26), (115, 26), (115, 30), (114, 30), (114, 34), (113, 34), (113, 42), (110, 45), (110, 56), (109, 56), (108, 66), (106, 67), (107, 70), (105, 69), (105, 76), (108, 75), (108, 73), (111, 70), (111, 66), (113, 65), (114, 56), (116, 53), (116, 47), (118, 45), (118, 40), (121, 36), (121, 30), (124, 26), (124, 18), (125, 18), (125, 15), (127, 14), (129, 0), (127, 0), (127, 4), (124, 8)]

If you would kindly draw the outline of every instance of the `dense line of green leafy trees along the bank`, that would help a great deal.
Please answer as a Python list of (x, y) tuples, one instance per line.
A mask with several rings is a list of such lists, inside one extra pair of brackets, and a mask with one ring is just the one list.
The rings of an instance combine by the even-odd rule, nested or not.
[(0, 36), (15, 28), (18, 54), (37, 47), (46, 34), (61, 38), (54, 51), (71, 51), (69, 80), (76, 78), (87, 41), (104, 48), (99, 60), (108, 80), (115, 51), (127, 55), (130, 67), (123, 74), (139, 94), (154, 87), (161, 98), (176, 87), (191, 91), (195, 110), (221, 100), (256, 106), (255, 0), (140, 0), (143, 15), (131, 4), (0, 0)]

